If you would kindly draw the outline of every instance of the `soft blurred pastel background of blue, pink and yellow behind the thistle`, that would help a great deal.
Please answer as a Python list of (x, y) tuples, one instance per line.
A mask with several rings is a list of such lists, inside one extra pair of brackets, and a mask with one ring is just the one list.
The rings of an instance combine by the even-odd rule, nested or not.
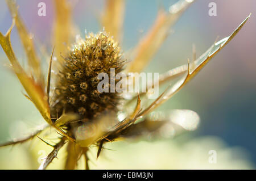
[[(38, 3), (46, 3), (46, 16), (38, 16)], [(174, 0), (126, 1), (122, 48), (133, 48), (154, 22), (160, 7), (168, 10)], [(210, 2), (217, 5), (217, 16), (209, 16)], [(52, 1), (17, 1), (19, 12), (36, 41), (51, 52)], [(99, 18), (104, 1), (72, 1), (73, 21), (84, 30), (101, 30)], [(116, 142), (106, 145), (100, 159), (91, 151), (92, 169), (255, 169), (256, 165), (256, 1), (197, 0), (181, 16), (151, 64), (148, 72), (164, 73), (197, 56), (214, 43), (229, 36), (250, 14), (251, 18), (230, 43), (172, 99), (159, 108), (164, 112), (187, 109), (200, 116), (199, 127), (178, 137), (154, 142)], [(11, 15), (0, 2), (0, 31), (11, 26)], [(26, 56), (14, 28), (11, 41), (20, 62)], [(24, 135), (44, 120), (23, 95), (20, 83), (9, 70), (0, 49), (0, 142)], [(42, 55), (42, 59), (44, 57)], [(47, 70), (47, 64), (46, 70)], [(25, 134), (26, 135), (26, 134)], [(42, 142), (0, 148), (0, 169), (36, 169), (40, 158), (51, 148)], [(54, 141), (53, 141), (54, 142)], [(216, 150), (217, 162), (209, 163), (209, 150)], [(49, 169), (61, 168), (61, 157)], [(81, 167), (83, 168), (83, 167)]]

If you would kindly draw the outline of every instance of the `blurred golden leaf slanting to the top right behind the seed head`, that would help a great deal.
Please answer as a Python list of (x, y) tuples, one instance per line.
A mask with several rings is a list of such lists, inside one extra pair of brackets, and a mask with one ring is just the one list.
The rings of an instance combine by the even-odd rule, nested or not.
[(181, 14), (188, 8), (193, 0), (180, 0), (170, 7), (170, 12), (160, 10), (150, 31), (139, 41), (135, 47), (135, 57), (127, 68), (127, 72), (141, 72), (154, 54), (158, 51), (163, 41), (168, 36), (170, 27), (177, 21)]

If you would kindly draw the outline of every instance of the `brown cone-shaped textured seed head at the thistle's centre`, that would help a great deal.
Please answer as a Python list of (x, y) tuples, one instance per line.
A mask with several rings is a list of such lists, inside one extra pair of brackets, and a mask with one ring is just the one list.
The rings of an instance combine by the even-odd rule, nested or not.
[(116, 74), (122, 70), (122, 54), (111, 37), (105, 32), (90, 33), (84, 42), (73, 45), (63, 62), (55, 81), (52, 117), (65, 110), (90, 120), (103, 112), (117, 111), (118, 93), (97, 90), (99, 73), (107, 73), (110, 82), (110, 68)]

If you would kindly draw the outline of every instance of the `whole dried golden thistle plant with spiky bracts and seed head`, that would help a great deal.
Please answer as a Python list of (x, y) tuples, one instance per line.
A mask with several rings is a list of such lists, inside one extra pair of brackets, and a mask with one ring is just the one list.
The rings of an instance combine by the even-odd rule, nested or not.
[[(168, 36), (171, 26), (193, 1), (180, 0), (170, 7), (170, 12), (160, 10), (151, 29), (134, 48), (133, 61), (128, 63), (118, 44), (121, 40), (125, 9), (123, 0), (107, 0), (101, 21), (105, 31), (97, 34), (89, 33), (85, 39), (77, 38), (72, 47), (68, 46), (72, 43), (75, 32), (71, 20), (71, 6), (67, 1), (55, 0), (53, 45), (57, 61), (53, 64), (52, 50), (47, 80), (44, 80), (34, 42), (20, 18), (15, 2), (11, 0), (6, 2), (13, 15), (13, 24), (5, 35), (0, 33), (1, 46), (11, 62), (14, 73), (27, 92), (26, 98), (35, 104), (48, 126), (32, 133), (29, 137), (16, 139), (1, 146), (23, 143), (49, 127), (55, 128), (60, 135), (59, 142), (56, 145), (46, 142), (53, 147), (53, 150), (39, 169), (46, 169), (66, 143), (68, 155), (65, 169), (76, 169), (77, 161), (82, 156), (86, 160), (86, 169), (89, 169), (87, 151), (90, 146), (98, 146), (98, 157), (106, 142), (116, 141), (119, 138), (137, 138), (145, 134), (157, 136), (160, 128), (166, 127), (170, 121), (153, 121), (147, 115), (195, 77), (233, 39), (249, 18), (247, 17), (230, 36), (214, 43), (199, 58), (194, 58), (191, 63), (188, 62), (161, 74), (160, 86), (180, 75), (184, 76), (174, 85), (168, 86), (149, 106), (143, 106), (141, 96), (144, 94), (137, 94), (126, 100), (123, 94), (98, 92), (97, 75), (101, 72), (110, 74), (110, 68), (115, 68), (117, 72), (141, 72)], [(28, 70), (24, 70), (19, 64), (11, 47), (10, 34), (15, 24), (26, 52)], [(55, 75), (51, 82), (52, 70)], [(146, 98), (143, 99), (146, 101)], [(137, 104), (133, 111), (129, 111), (133, 100), (137, 100)], [(118, 119), (120, 110), (127, 111), (127, 116), (122, 120)]]

